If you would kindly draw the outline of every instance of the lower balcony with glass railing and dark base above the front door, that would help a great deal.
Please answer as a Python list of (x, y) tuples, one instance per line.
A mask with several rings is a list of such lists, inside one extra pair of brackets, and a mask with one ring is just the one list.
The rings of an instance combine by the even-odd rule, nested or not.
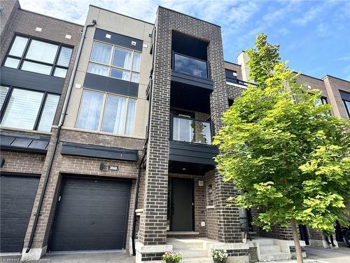
[(172, 116), (169, 173), (204, 175), (215, 166), (211, 121)]

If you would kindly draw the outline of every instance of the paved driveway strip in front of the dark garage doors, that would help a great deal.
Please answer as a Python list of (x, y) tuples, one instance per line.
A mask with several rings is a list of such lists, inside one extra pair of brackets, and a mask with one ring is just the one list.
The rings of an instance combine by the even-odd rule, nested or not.
[[(21, 262), (20, 256), (0, 257), (1, 263)], [(123, 252), (48, 254), (33, 263), (134, 263), (135, 257)]]

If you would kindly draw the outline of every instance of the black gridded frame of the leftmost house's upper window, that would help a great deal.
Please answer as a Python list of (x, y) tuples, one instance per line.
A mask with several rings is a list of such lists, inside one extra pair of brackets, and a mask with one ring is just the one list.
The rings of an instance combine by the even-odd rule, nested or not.
[[(10, 50), (11, 50), (11, 48), (13, 46), (13, 43), (15, 43), (15, 39), (16, 39), (17, 36), (25, 37), (25, 38), (28, 39), (28, 41), (27, 41), (27, 43), (25, 45), (25, 50), (23, 50), (22, 57), (18, 57), (18, 56), (15, 56), (15, 55), (10, 55)], [(41, 62), (41, 61), (38, 61), (38, 60), (32, 60), (32, 59), (25, 58), (26, 55), (27, 55), (27, 52), (29, 50), (29, 46), (31, 44), (31, 41), (33, 41), (33, 40), (41, 41), (41, 42), (44, 42), (44, 43), (50, 43), (50, 44), (58, 46), (57, 52), (56, 52), (56, 55), (55, 55), (55, 60), (54, 60), (53, 64), (50, 64), (48, 62)], [(62, 65), (58, 65), (57, 64), (58, 59), (59, 59), (59, 54), (61, 53), (62, 48), (71, 48), (71, 58), (69, 59), (68, 67), (64, 67)], [(16, 34), (13, 35), (13, 38), (12, 38), (11, 43), (10, 43), (10, 46), (8, 47), (8, 50), (6, 52), (5, 58), (3, 59), (3, 62), (1, 64), (1, 66), (6, 67), (5, 63), (6, 63), (7, 58), (13, 58), (13, 59), (16, 59), (16, 60), (20, 60), (20, 62), (18, 63), (18, 67), (16, 68), (18, 70), (23, 70), (23, 71), (26, 71), (26, 72), (30, 72), (30, 71), (27, 71), (25, 69), (22, 69), (23, 63), (25, 61), (27, 61), (27, 62), (33, 62), (33, 63), (36, 63), (36, 64), (52, 67), (50, 75), (39, 73), (39, 72), (33, 72), (33, 73), (43, 74), (43, 75), (46, 75), (46, 76), (54, 76), (55, 69), (56, 68), (60, 68), (60, 69), (66, 69), (66, 76), (67, 76), (68, 75), (69, 65), (71, 64), (71, 59), (73, 57), (73, 50), (74, 50), (74, 46), (65, 45), (65, 44), (62, 44), (62, 43), (59, 43), (59, 42), (55, 42), (55, 41), (48, 41), (46, 39), (40, 39), (40, 38), (37, 38), (37, 37), (34, 37), (34, 36), (29, 36), (29, 35), (26, 35), (26, 34), (17, 34), (16, 33)], [(64, 78), (62, 78), (61, 76), (55, 76), (55, 77), (56, 78), (61, 78), (61, 79), (66, 79), (66, 76)]]

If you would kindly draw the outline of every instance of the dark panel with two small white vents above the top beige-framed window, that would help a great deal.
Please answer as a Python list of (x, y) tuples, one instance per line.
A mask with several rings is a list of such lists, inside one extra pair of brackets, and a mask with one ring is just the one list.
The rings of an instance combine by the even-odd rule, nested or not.
[[(106, 34), (110, 34), (111, 38), (107, 39)], [(116, 46), (123, 46), (125, 48), (130, 48), (137, 51), (142, 51), (142, 47), (144, 45), (144, 41), (142, 41), (141, 39), (135, 39), (130, 36), (113, 33), (110, 31), (106, 31), (104, 29), (99, 29), (99, 28), (97, 28), (94, 31), (94, 39), (103, 41), (106, 43), (111, 43)], [(132, 41), (136, 42), (136, 45), (132, 45)]]

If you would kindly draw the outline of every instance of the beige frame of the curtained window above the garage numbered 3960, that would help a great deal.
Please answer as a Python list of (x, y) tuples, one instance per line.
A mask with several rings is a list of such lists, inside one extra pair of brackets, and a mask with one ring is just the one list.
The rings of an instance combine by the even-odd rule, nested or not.
[[(79, 128), (77, 127), (78, 124), (78, 119), (80, 116), (80, 111), (81, 111), (81, 104), (83, 103), (83, 93), (84, 91), (90, 91), (92, 93), (101, 93), (102, 95), (104, 95), (103, 99), (102, 99), (102, 107), (101, 107), (101, 114), (99, 116), (99, 125), (97, 127), (97, 130), (90, 130), (90, 129), (85, 129), (85, 128)], [(105, 112), (106, 112), (106, 107), (107, 107), (107, 96), (111, 95), (113, 97), (122, 97), (126, 99), (126, 103), (125, 103), (125, 118), (123, 120), (123, 133), (109, 133), (106, 131), (102, 130), (102, 126), (104, 123), (104, 119), (105, 119)], [(127, 114), (128, 114), (128, 109), (129, 109), (129, 102), (130, 100), (134, 100), (135, 101), (135, 107), (134, 107), (134, 116), (133, 116), (133, 123), (132, 123), (132, 132), (131, 134), (125, 134), (125, 130), (127, 128)], [(106, 133), (106, 134), (111, 134), (111, 135), (122, 135), (122, 136), (132, 136), (134, 133), (134, 123), (135, 123), (135, 116), (137, 112), (137, 99), (134, 97), (129, 97), (129, 96), (124, 96), (124, 95), (120, 95), (120, 94), (116, 94), (116, 93), (109, 93), (106, 91), (102, 91), (102, 90), (92, 90), (90, 88), (83, 88), (83, 92), (81, 93), (81, 97), (80, 97), (80, 102), (79, 102), (79, 109), (78, 109), (78, 114), (76, 115), (76, 121), (74, 124), (74, 128), (80, 129), (80, 130), (90, 130), (93, 132), (97, 132), (97, 133)]]

